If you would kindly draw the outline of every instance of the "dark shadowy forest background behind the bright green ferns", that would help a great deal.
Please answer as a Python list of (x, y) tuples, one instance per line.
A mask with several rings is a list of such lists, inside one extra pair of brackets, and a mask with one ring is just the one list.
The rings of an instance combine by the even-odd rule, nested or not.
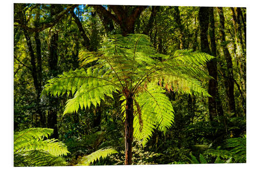
[(44, 85), (80, 68), (79, 53), (96, 51), (109, 35), (134, 33), (160, 54), (192, 49), (216, 58), (204, 66), (213, 79), (202, 80), (211, 96), (166, 90), (174, 123), (145, 147), (135, 140), (132, 164), (246, 162), (246, 8), (14, 4), (13, 29), (14, 132), (54, 129), (51, 138), (70, 152), (67, 165), (109, 146), (118, 153), (91, 165), (123, 164), (121, 103), (106, 99), (62, 116), (71, 94), (41, 95)]

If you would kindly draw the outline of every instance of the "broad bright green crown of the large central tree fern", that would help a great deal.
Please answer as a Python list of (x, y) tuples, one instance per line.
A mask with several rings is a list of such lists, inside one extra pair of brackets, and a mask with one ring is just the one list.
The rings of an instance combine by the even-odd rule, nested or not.
[(71, 92), (74, 96), (67, 101), (65, 114), (91, 105), (97, 107), (105, 96), (113, 97), (112, 93), (117, 92), (123, 100), (124, 124), (132, 124), (126, 127), (134, 127), (134, 133), (133, 128), (129, 131), (145, 144), (153, 129), (165, 133), (172, 126), (174, 110), (164, 89), (209, 96), (200, 79), (210, 78), (203, 64), (213, 57), (190, 50), (180, 50), (175, 55), (157, 53), (146, 35), (113, 35), (97, 52), (79, 54), (81, 67), (91, 62), (96, 64), (63, 72), (48, 81), (42, 94)]

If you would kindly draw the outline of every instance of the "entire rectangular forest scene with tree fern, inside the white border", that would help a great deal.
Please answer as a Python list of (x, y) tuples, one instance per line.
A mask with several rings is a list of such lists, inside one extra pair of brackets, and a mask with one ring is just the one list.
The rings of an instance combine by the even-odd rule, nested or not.
[(14, 4), (13, 152), (246, 163), (246, 8)]

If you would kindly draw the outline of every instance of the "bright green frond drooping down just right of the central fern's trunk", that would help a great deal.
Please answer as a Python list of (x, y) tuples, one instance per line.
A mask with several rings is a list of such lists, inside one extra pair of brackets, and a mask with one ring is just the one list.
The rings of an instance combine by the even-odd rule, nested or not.
[(152, 136), (154, 129), (157, 128), (165, 134), (174, 122), (173, 106), (164, 92), (160, 86), (151, 83), (135, 98), (140, 106), (143, 127), (137, 114), (138, 109), (135, 107), (134, 137), (142, 140), (143, 145)]

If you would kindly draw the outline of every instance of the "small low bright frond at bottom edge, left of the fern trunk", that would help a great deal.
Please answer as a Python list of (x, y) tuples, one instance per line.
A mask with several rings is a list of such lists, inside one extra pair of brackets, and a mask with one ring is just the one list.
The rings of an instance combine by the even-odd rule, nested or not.
[(83, 156), (77, 165), (90, 165), (90, 163), (93, 163), (100, 158), (104, 159), (115, 153), (117, 153), (117, 151), (113, 148), (100, 149), (94, 153), (91, 153), (90, 155)]

